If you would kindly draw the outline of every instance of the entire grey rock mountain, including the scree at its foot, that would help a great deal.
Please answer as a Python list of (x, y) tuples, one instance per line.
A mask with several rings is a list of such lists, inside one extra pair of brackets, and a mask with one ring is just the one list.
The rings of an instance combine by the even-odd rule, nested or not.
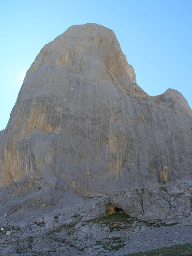
[(145, 93), (112, 30), (69, 27), (35, 58), (0, 131), (0, 221), (0, 255), (192, 251), (186, 99)]

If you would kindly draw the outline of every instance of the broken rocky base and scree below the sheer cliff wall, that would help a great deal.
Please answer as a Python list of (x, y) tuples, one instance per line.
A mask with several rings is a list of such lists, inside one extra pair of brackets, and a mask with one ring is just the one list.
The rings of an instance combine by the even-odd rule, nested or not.
[[(48, 192), (44, 187), (42, 195), (43, 190)], [(56, 196), (40, 199), (38, 184), (31, 186), (25, 179), (0, 189), (0, 216), (7, 205), (7, 198), (2, 196), (11, 192), (8, 221), (12, 229), (11, 236), (0, 234), (0, 255), (123, 256), (162, 247), (176, 255), (182, 246), (191, 255), (190, 182), (129, 188), (93, 198), (76, 195), (76, 202), (75, 193), (70, 191), (68, 195), (74, 197), (70, 204), (65, 202), (66, 188), (52, 188), (49, 195), (57, 190), (63, 194), (63, 202)], [(3, 221), (0, 219), (0, 223)], [(172, 251), (170, 246), (180, 244), (185, 245)], [(159, 249), (156, 254), (161, 252)]]

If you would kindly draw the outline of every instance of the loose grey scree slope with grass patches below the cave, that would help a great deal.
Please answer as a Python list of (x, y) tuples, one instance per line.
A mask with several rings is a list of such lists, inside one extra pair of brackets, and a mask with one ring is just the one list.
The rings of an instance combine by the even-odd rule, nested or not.
[[(12, 227), (11, 236), (0, 236), (0, 255), (129, 255), (192, 243), (191, 225), (151, 224), (124, 213), (90, 221), (82, 221), (78, 214), (64, 221), (59, 214), (55, 223), (58, 227), (47, 229), (34, 218), (19, 223), (23, 228)], [(187, 248), (192, 253), (192, 246)]]

